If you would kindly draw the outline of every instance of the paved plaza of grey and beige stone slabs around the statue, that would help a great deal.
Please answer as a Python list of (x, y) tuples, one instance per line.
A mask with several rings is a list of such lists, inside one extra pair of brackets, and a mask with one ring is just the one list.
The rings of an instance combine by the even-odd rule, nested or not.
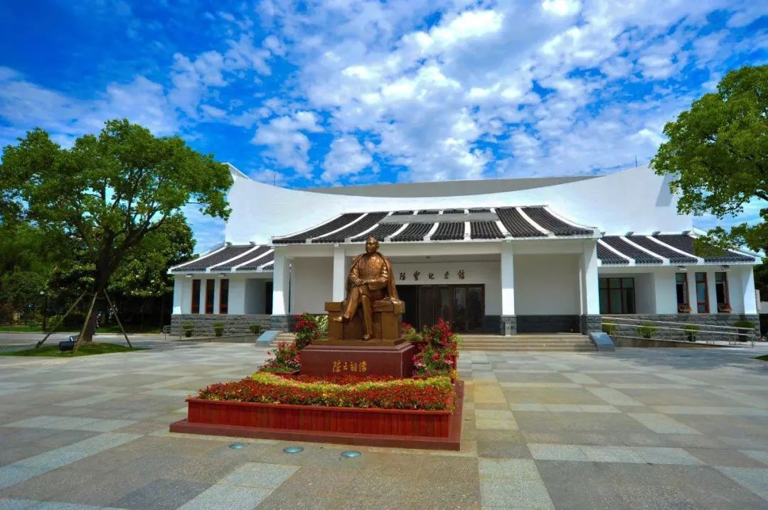
[(460, 452), (167, 432), (248, 344), (0, 357), (0, 508), (768, 508), (765, 350), (464, 352)]

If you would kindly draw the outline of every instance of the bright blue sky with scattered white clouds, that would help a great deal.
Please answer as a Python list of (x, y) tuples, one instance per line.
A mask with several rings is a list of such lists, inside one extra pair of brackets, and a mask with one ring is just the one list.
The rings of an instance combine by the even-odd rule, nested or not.
[(595, 174), (765, 64), (768, 2), (2, 2), (0, 55), (2, 146), (128, 117), (290, 187)]

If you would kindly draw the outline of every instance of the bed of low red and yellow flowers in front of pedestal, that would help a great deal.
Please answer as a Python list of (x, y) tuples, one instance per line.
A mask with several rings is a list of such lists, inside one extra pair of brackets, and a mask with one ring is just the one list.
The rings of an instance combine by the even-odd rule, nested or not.
[(346, 376), (338, 379), (338, 382), (303, 382), (275, 373), (257, 372), (240, 381), (211, 384), (198, 392), (198, 398), (362, 409), (451, 411), (455, 407), (455, 388), (449, 377), (356, 380)]

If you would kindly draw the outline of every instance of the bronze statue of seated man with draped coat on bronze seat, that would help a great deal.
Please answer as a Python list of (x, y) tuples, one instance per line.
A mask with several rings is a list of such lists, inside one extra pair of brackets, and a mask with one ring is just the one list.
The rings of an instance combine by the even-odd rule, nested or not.
[(352, 262), (346, 299), (327, 302), (326, 311), (330, 341), (400, 340), (406, 305), (398, 298), (392, 263), (379, 253), (376, 238), (366, 239), (366, 252)]

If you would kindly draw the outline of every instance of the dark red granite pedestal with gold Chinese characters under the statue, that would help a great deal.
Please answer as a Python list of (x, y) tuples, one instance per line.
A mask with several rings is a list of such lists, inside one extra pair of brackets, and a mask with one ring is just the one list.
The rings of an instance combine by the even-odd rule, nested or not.
[(362, 341), (315, 341), (301, 351), (301, 374), (411, 377), (415, 345), (410, 342), (370, 344)]

